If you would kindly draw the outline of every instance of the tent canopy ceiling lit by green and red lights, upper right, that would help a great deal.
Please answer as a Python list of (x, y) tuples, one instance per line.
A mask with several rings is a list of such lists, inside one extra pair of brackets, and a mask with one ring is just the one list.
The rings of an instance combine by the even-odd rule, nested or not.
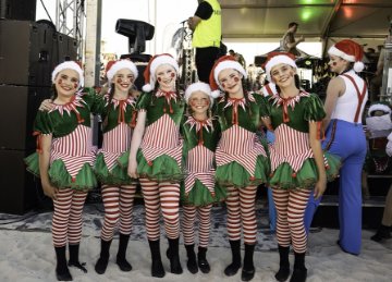
[[(391, 0), (220, 0), (223, 38), (280, 38), (290, 22), (305, 38), (382, 41)], [(390, 19), (391, 17), (391, 19)]]

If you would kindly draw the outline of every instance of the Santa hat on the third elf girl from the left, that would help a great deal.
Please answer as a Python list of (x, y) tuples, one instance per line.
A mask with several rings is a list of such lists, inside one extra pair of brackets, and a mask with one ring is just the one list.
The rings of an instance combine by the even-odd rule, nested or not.
[(142, 89), (145, 93), (149, 93), (154, 89), (155, 84), (156, 84), (156, 78), (157, 78), (156, 71), (157, 71), (158, 66), (161, 64), (170, 64), (171, 66), (174, 68), (175, 72), (179, 73), (179, 64), (170, 53), (162, 53), (162, 54), (154, 56), (149, 60), (147, 68), (144, 72), (144, 77), (145, 77), (146, 84), (142, 87)]

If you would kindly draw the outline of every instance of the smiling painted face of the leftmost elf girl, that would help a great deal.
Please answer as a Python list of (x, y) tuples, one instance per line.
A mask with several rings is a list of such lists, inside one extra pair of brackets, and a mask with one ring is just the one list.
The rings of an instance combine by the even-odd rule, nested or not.
[(78, 89), (78, 73), (71, 69), (62, 70), (54, 79), (54, 86), (59, 97), (71, 97)]

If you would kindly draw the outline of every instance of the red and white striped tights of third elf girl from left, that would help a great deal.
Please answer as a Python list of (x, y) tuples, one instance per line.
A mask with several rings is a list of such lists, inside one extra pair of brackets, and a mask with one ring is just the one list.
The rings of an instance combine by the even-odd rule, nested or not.
[(159, 216), (162, 211), (168, 238), (180, 236), (180, 184), (139, 179), (146, 209), (146, 231), (149, 241), (160, 238)]

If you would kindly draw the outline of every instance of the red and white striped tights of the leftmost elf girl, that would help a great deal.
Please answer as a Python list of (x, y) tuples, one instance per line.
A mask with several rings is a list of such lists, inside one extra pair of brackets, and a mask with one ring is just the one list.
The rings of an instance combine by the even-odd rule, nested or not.
[(61, 188), (53, 200), (52, 237), (54, 247), (63, 247), (66, 241), (77, 245), (82, 238), (82, 212), (87, 192)]

